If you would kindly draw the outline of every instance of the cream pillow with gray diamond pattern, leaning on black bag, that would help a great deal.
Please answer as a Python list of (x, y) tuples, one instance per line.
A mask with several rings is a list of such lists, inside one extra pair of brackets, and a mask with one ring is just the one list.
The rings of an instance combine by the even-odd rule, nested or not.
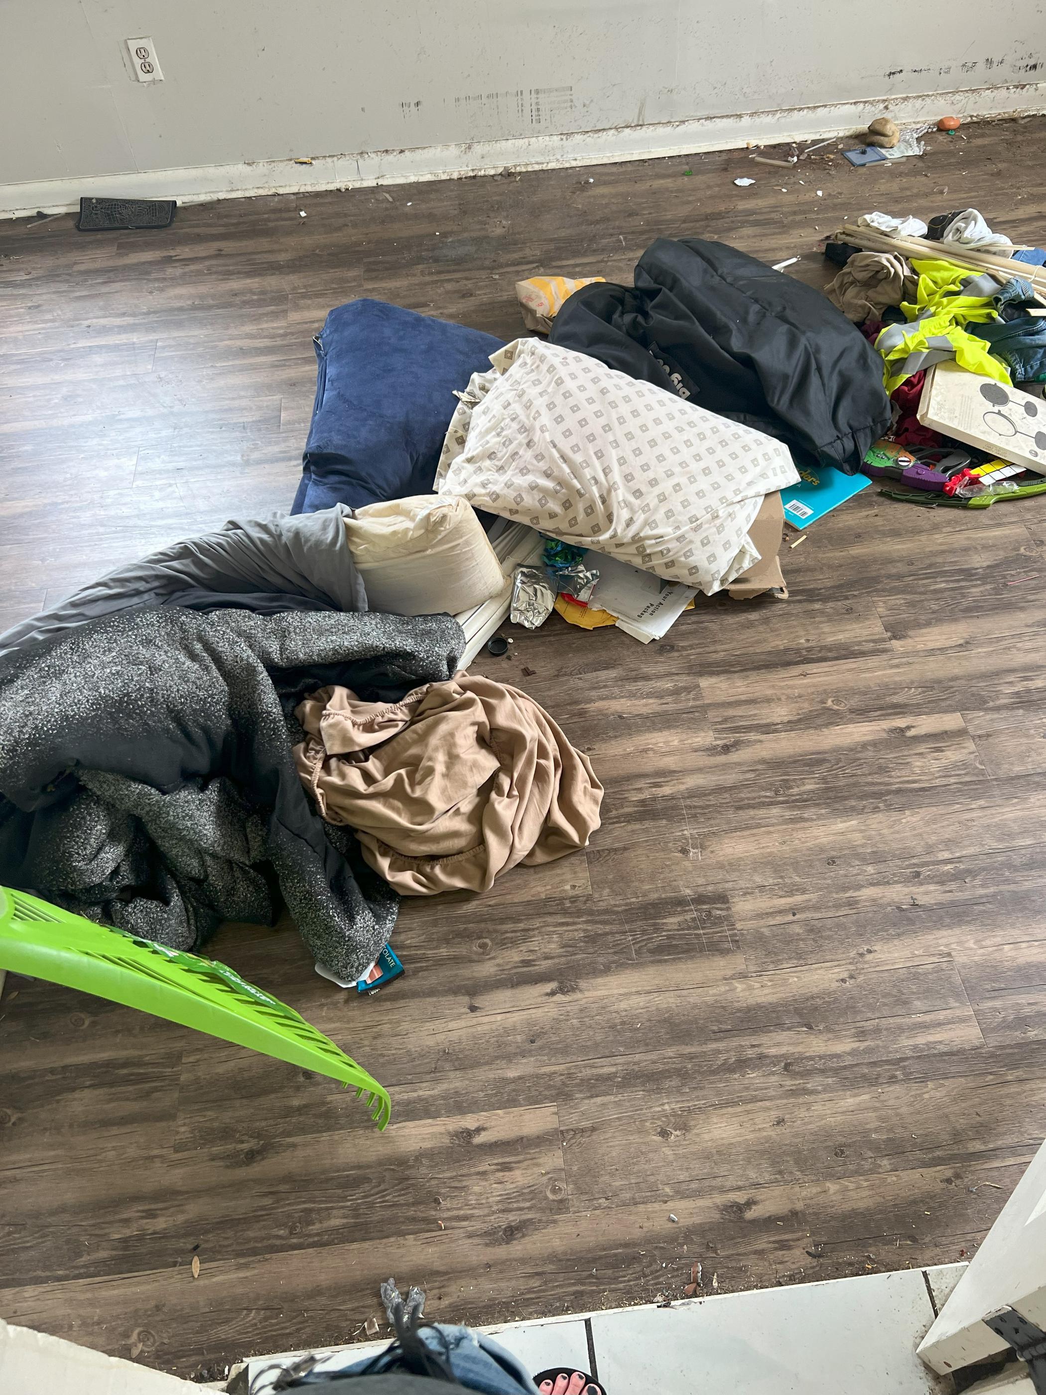
[(780, 441), (541, 339), (491, 363), (459, 393), (441, 495), (708, 596), (759, 561), (763, 497), (799, 483)]

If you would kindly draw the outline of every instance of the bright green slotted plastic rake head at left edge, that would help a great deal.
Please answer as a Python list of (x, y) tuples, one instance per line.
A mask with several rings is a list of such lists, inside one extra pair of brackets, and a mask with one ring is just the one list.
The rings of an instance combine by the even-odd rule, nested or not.
[(77, 988), (339, 1080), (384, 1130), (389, 1092), (293, 1007), (226, 964), (95, 925), (0, 887), (0, 968)]

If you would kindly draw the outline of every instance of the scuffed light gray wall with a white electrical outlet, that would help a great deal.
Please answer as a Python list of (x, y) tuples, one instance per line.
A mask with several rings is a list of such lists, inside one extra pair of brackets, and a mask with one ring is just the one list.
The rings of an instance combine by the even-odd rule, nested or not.
[(0, 0), (0, 186), (1038, 84), (1045, 31), (1042, 0)]

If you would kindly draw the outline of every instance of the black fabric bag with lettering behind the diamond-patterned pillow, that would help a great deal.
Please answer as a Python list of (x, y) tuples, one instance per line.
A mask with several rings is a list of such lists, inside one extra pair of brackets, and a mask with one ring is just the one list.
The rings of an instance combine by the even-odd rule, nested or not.
[(890, 425), (883, 360), (820, 292), (724, 243), (658, 237), (633, 287), (583, 286), (549, 340), (854, 474)]

